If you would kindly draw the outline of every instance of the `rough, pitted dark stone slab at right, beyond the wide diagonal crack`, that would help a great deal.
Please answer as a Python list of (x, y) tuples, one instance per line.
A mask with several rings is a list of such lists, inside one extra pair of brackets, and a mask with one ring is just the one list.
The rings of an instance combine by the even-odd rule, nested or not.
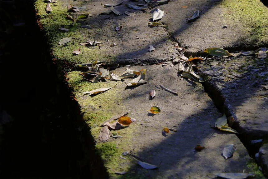
[[(209, 65), (218, 61), (216, 66)], [(268, 67), (264, 59), (251, 57), (212, 58), (199, 69), (218, 106), (237, 120), (235, 127), (248, 140), (268, 138)], [(222, 109), (224, 110), (224, 109)]]

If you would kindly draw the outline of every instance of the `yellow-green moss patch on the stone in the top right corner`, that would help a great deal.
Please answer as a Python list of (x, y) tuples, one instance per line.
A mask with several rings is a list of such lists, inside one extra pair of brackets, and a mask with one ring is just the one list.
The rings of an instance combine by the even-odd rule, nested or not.
[[(239, 21), (243, 27), (251, 32), (249, 40), (254, 43), (267, 42), (268, 36), (268, 8), (259, 0), (223, 0), (225, 17), (228, 22)], [(231, 13), (229, 13), (231, 12)]]

